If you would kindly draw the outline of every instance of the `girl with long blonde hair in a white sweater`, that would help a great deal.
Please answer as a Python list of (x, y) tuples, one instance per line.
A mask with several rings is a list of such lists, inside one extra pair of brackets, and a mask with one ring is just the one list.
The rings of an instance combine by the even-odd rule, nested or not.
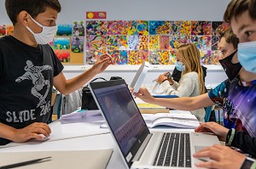
[[(193, 97), (206, 93), (201, 56), (194, 43), (181, 43), (177, 46), (176, 68), (182, 71), (179, 82), (168, 78), (166, 74), (160, 75), (156, 80), (162, 86), (164, 93), (177, 95), (178, 97)], [(203, 108), (192, 110), (191, 113), (199, 121), (205, 121), (205, 110)]]

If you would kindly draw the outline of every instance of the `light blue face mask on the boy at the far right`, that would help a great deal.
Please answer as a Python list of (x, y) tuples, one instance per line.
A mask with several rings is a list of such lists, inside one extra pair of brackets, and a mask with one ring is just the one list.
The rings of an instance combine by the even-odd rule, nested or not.
[(256, 73), (256, 41), (238, 43), (237, 57), (245, 70)]

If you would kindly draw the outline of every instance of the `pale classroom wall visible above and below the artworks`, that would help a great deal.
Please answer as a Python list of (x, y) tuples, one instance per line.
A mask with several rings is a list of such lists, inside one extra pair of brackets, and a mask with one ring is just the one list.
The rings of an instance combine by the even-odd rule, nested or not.
[[(58, 16), (58, 24), (72, 23), (73, 20), (85, 20), (86, 11), (106, 11), (107, 20), (222, 20), (224, 9), (230, 0), (60, 0), (62, 11)], [(0, 24), (10, 24), (4, 8), (4, 0), (0, 1)], [(111, 66), (99, 76), (107, 79), (110, 76), (122, 76), (127, 83), (132, 81), (137, 66)], [(206, 83), (223, 82), (227, 77), (219, 65), (206, 65)], [(79, 75), (90, 66), (65, 65), (63, 71), (67, 78)], [(160, 73), (174, 66), (152, 65), (145, 83), (150, 83)]]

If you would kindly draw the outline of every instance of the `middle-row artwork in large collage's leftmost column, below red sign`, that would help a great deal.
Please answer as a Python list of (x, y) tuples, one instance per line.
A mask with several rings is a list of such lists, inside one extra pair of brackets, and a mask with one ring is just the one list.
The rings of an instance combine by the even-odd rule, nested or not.
[(107, 37), (106, 36), (96, 36), (89, 35), (86, 36), (86, 48), (87, 50), (106, 50), (107, 47)]

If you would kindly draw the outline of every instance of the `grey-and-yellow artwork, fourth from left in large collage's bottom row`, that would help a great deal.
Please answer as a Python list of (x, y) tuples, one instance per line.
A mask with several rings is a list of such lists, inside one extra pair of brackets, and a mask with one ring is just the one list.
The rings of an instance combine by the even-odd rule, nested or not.
[(149, 64), (169, 65), (169, 51), (149, 51)]

